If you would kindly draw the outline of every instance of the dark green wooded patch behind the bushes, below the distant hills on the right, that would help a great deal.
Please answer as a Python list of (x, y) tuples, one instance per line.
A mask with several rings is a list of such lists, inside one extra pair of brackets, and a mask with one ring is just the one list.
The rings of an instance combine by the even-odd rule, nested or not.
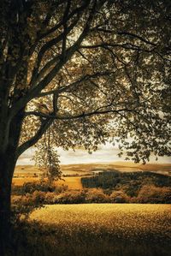
[(158, 187), (170, 187), (171, 177), (152, 172), (120, 172), (117, 170), (104, 171), (95, 176), (82, 177), (84, 188), (110, 188), (123, 190), (127, 195), (137, 196), (139, 189), (144, 185), (155, 185)]

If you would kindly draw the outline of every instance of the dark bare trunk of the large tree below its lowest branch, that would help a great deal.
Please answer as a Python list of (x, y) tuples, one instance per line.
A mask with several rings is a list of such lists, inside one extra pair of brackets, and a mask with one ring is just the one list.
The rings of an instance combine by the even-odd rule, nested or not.
[(0, 255), (10, 246), (11, 183), (15, 170), (13, 152), (0, 155)]

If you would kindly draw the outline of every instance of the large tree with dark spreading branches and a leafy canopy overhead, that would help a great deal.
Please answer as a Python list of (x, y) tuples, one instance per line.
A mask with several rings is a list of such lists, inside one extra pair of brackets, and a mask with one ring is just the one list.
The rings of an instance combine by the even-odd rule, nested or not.
[(170, 155), (169, 8), (166, 0), (2, 1), (2, 241), (17, 158), (49, 129), (50, 143), (66, 149), (96, 150), (116, 137), (136, 162)]

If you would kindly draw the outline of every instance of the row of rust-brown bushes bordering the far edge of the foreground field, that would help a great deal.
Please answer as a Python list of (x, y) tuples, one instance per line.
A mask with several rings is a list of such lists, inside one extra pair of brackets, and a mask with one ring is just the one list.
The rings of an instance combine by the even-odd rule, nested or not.
[[(133, 178), (133, 177), (132, 177)], [(15, 213), (29, 213), (35, 207), (54, 204), (83, 203), (151, 203), (170, 204), (171, 189), (167, 182), (161, 187), (154, 185), (155, 179), (149, 176), (134, 176), (137, 183), (121, 177), (122, 183), (110, 188), (86, 188), (68, 190), (67, 186), (50, 188), (48, 184), (29, 182), (24, 187), (14, 187), (12, 205)], [(139, 182), (140, 181), (140, 182)], [(143, 182), (142, 182), (143, 181)], [(130, 182), (130, 184), (127, 184)], [(108, 184), (108, 183), (107, 183)], [(139, 184), (139, 186), (138, 186)], [(132, 187), (133, 186), (133, 187)]]

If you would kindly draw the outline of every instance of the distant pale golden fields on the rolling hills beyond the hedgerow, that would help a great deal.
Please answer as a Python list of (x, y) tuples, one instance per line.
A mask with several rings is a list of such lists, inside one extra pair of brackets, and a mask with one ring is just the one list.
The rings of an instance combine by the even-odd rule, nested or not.
[[(156, 173), (170, 175), (171, 164), (133, 164), (129, 162), (115, 162), (107, 164), (65, 164), (62, 165), (63, 180), (57, 183), (68, 185), (69, 189), (82, 188), (80, 178), (87, 175), (92, 175), (100, 170), (120, 170), (123, 172), (128, 171), (142, 171), (148, 170)], [(32, 165), (18, 165), (15, 168), (15, 176), (13, 184), (22, 185), (24, 182), (37, 182), (41, 170)]]

